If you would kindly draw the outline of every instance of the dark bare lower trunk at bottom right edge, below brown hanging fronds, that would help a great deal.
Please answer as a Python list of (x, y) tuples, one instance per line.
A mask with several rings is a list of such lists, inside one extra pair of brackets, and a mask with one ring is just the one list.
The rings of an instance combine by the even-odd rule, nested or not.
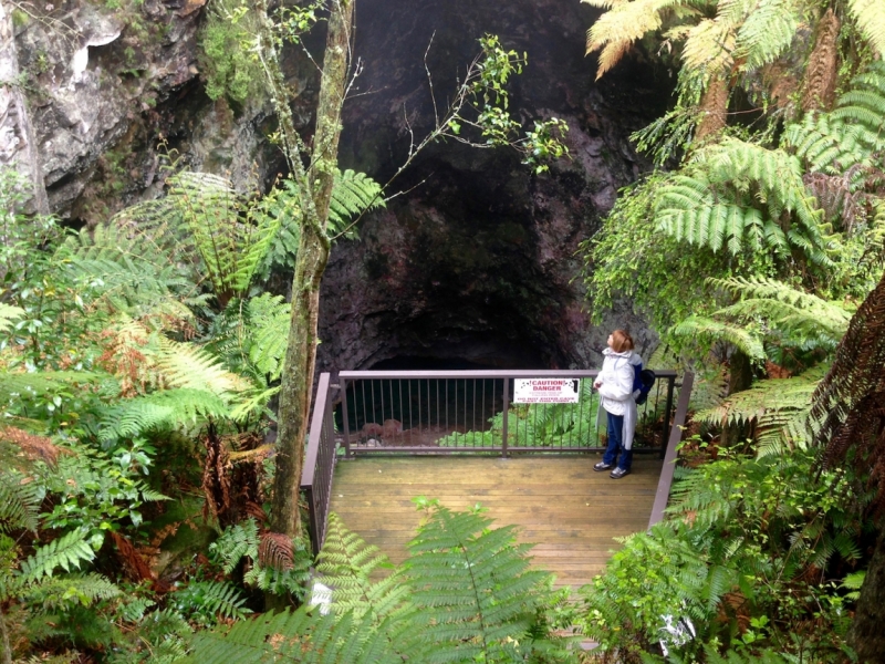
[(876, 543), (870, 569), (861, 588), (861, 599), (848, 630), (848, 644), (858, 662), (885, 662), (885, 532)]

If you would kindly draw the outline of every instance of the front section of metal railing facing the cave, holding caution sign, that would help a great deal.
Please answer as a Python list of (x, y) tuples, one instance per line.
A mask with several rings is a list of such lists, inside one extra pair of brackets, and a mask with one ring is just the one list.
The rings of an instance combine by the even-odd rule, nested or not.
[[(335, 419), (345, 456), (591, 452), (605, 446), (598, 371), (341, 372)], [(570, 378), (577, 403), (514, 403), (514, 381)], [(676, 372), (660, 371), (639, 406), (635, 449), (664, 456)]]

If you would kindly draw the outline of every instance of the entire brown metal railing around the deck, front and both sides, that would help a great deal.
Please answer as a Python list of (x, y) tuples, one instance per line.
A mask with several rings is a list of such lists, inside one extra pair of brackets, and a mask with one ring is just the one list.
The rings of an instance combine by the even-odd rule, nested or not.
[[(605, 444), (605, 417), (596, 422), (598, 395), (592, 390), (596, 375), (595, 370), (341, 372), (340, 383), (333, 385), (327, 373), (321, 374), (301, 479), (314, 553), (325, 539), (332, 477), (340, 457), (600, 452)], [(681, 386), (676, 377), (674, 371), (657, 372), (648, 401), (639, 406), (637, 453), (657, 452), (668, 458), (678, 443), (691, 376), (687, 374)], [(520, 378), (576, 380), (577, 403), (513, 403), (514, 381)], [(674, 417), (677, 387), (681, 388)], [(671, 478), (670, 468), (667, 496)]]

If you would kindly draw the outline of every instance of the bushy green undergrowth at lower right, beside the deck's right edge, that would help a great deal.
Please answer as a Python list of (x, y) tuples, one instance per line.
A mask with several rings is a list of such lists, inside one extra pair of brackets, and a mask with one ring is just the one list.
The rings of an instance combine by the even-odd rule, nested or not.
[[(674, 661), (698, 661), (707, 646), (740, 661), (764, 661), (767, 651), (841, 661), (847, 604), (824, 580), (858, 557), (848, 480), (824, 471), (813, 481), (806, 452), (789, 459), (718, 452), (677, 471), (670, 519), (628, 538), (584, 589), (585, 634), (625, 661), (662, 639)], [(665, 616), (690, 618), (697, 636), (674, 642)]]

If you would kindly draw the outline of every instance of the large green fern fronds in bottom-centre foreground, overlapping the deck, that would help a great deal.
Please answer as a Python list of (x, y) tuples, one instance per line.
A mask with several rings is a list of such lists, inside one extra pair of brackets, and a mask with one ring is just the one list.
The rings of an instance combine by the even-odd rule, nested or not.
[(516, 543), (512, 528), (490, 529), (490, 519), (478, 510), (451, 512), (436, 501), (418, 502), (428, 518), (402, 570), (371, 581), (383, 559), (331, 517), (317, 571), (333, 588), (332, 611), (304, 604), (293, 613), (238, 622), (223, 633), (201, 632), (191, 660), (566, 661), (566, 651), (546, 642), (540, 626), (539, 612), (549, 599), (545, 574), (528, 570), (528, 546)]

